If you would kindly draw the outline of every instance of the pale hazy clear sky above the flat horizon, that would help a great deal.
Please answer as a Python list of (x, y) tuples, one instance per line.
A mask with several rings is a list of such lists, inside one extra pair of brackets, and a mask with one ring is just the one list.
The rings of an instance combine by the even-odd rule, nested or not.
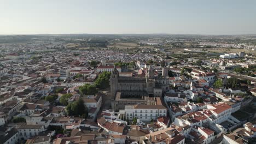
[(256, 34), (255, 0), (0, 0), (1, 34)]

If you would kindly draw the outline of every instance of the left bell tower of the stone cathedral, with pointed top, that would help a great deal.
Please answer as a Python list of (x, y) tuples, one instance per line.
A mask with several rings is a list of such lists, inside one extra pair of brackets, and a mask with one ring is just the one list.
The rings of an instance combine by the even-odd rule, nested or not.
[(111, 90), (113, 99), (115, 98), (115, 93), (117, 93), (117, 90), (118, 90), (118, 75), (119, 75), (119, 72), (114, 65), (114, 70), (112, 71), (112, 74), (110, 76), (110, 90)]

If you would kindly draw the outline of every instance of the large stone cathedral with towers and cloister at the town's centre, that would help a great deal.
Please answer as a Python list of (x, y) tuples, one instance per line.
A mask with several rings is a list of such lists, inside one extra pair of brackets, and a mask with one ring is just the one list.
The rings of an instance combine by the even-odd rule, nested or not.
[(110, 76), (112, 93), (112, 109), (124, 109), (125, 105), (154, 104), (154, 97), (161, 97), (169, 88), (169, 81), (164, 77), (156, 77), (150, 65), (146, 75), (119, 73), (117, 68)]

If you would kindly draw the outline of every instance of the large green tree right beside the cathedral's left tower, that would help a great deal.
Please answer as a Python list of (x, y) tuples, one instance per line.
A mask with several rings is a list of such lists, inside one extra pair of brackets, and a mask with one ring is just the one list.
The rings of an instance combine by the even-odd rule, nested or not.
[(95, 86), (97, 88), (108, 88), (109, 87), (109, 78), (111, 73), (108, 71), (103, 71), (100, 75), (98, 75), (97, 80), (95, 81)]

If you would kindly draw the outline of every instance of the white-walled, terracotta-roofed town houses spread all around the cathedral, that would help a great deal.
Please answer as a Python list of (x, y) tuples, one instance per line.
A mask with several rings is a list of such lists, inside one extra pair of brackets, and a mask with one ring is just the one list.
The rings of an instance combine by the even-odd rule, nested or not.
[[(120, 67), (114, 63), (131, 62), (142, 54), (103, 53), (86, 51), (74, 56), (56, 52), (37, 56), (41, 58), (13, 53), (2, 59), (1, 142), (208, 144), (246, 143), (256, 137), (251, 121), (255, 116), (241, 119), (236, 114), (253, 101), (256, 80), (252, 77), (205, 70), (191, 64), (195, 59), (176, 65), (166, 60), (163, 67), (162, 59), (153, 55), (136, 61), (134, 67)], [(149, 59), (158, 62), (149, 64)], [(92, 61), (101, 62), (91, 65)], [(203, 64), (229, 65), (215, 60)], [(109, 93), (79, 93), (80, 86), (94, 85), (103, 71), (112, 73)], [(225, 87), (229, 79), (250, 83)], [(223, 86), (215, 87), (217, 80)], [(67, 103), (82, 98), (88, 110), (86, 119), (67, 115), (66, 106), (60, 104), (66, 94), (71, 94)], [(51, 95), (56, 99), (45, 99)], [(108, 110), (104, 109), (106, 97), (111, 97)]]

